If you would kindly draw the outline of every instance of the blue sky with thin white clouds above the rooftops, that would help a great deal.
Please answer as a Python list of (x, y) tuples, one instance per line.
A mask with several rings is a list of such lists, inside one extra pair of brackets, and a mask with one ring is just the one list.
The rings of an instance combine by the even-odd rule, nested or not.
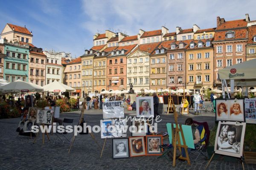
[(6, 23), (26, 25), (33, 44), (44, 50), (84, 54), (93, 46), (93, 35), (125, 32), (137, 35), (166, 26), (175, 32), (197, 24), (201, 29), (216, 27), (216, 17), (225, 20), (256, 20), (255, 0), (0, 0), (0, 29)]

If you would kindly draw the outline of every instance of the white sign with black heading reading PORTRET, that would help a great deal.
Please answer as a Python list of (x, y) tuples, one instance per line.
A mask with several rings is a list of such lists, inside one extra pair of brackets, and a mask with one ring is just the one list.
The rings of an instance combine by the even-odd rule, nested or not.
[(103, 103), (103, 118), (124, 118), (123, 101), (108, 101)]

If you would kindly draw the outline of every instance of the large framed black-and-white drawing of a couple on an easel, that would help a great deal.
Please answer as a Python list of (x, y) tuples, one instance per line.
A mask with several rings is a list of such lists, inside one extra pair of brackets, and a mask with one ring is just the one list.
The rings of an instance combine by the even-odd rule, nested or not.
[(245, 126), (246, 123), (219, 121), (215, 138), (215, 153), (241, 157), (243, 155)]

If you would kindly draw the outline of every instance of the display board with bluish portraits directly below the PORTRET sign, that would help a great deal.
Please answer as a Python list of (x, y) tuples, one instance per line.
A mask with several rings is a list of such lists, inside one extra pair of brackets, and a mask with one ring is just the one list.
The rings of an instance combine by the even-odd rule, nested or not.
[(126, 137), (125, 119), (105, 119), (100, 121), (101, 138)]

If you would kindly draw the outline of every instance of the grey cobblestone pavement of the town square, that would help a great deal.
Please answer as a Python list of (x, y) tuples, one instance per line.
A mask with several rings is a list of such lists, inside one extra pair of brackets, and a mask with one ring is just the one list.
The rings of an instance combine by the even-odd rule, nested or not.
[[(75, 124), (79, 121), (79, 111), (61, 113), (61, 118), (74, 118)], [(135, 111), (125, 110), (125, 115), (134, 116)], [(192, 117), (196, 121), (207, 121), (209, 127), (214, 125), (215, 117), (211, 112), (202, 115), (179, 115), (178, 122), (183, 123), (186, 118)], [(161, 115), (163, 119), (158, 123), (158, 131), (166, 132), (166, 123), (174, 122), (173, 115)], [(93, 110), (84, 112), (84, 120), (88, 125), (100, 125), (102, 119), (102, 110)], [(0, 169), (1, 170), (203, 170), (207, 160), (200, 156), (197, 162), (188, 165), (186, 161), (176, 161), (176, 167), (172, 167), (172, 162), (165, 158), (157, 159), (157, 156), (140, 156), (125, 159), (112, 159), (112, 139), (107, 139), (102, 158), (100, 154), (102, 148), (99, 148), (90, 135), (78, 135), (75, 138), (71, 152), (68, 153), (69, 144), (64, 147), (53, 145), (55, 134), (50, 134), (50, 141), (45, 138), (45, 144), (42, 144), (42, 135), (33, 144), (34, 138), (21, 136), (15, 132), (19, 118), (0, 120)], [(128, 122), (131, 125), (131, 122)], [(101, 147), (104, 140), (100, 133), (93, 133)], [(128, 136), (131, 133), (128, 132)], [(164, 143), (169, 143), (168, 139)], [(193, 158), (194, 156), (192, 156)], [(239, 159), (233, 161), (213, 160), (209, 165), (209, 170), (241, 170), (242, 166)], [(254, 164), (245, 164), (245, 169), (256, 169)]]

